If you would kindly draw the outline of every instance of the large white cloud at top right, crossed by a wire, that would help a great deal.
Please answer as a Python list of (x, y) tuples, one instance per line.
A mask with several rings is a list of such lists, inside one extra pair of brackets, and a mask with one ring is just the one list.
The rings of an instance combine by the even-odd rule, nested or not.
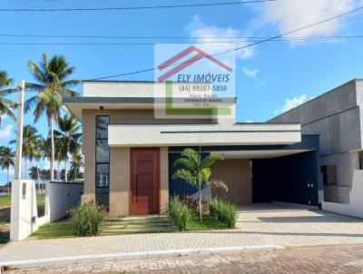
[[(263, 5), (264, 19), (277, 24), (280, 34), (299, 27), (314, 24), (330, 17), (348, 12), (354, 6), (354, 0), (291, 0), (267, 3)], [(331, 20), (301, 30), (291, 36), (317, 36), (336, 33), (342, 27), (343, 18)]]

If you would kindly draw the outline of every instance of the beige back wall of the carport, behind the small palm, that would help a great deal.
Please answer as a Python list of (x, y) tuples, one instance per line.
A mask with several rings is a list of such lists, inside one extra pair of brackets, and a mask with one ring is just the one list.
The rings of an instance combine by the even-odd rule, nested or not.
[(236, 204), (252, 202), (250, 160), (226, 159), (216, 161), (211, 168), (211, 181), (224, 181), (228, 191), (211, 187), (211, 196)]

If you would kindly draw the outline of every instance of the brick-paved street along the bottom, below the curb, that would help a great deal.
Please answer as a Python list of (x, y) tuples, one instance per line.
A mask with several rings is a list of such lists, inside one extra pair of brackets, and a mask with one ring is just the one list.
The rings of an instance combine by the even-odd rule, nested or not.
[(363, 273), (363, 245), (84, 263), (18, 273)]

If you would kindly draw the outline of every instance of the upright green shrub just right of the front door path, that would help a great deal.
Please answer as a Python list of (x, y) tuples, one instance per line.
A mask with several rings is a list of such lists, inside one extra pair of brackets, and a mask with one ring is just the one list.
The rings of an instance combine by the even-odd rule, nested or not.
[(188, 206), (180, 201), (178, 197), (173, 197), (169, 202), (169, 219), (178, 228), (179, 231), (185, 231), (187, 222), (191, 218), (191, 210)]

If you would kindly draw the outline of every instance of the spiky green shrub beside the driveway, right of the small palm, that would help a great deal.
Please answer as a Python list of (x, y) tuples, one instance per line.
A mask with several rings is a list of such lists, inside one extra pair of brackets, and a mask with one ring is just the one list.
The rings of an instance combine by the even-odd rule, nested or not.
[(236, 226), (237, 208), (233, 203), (213, 198), (210, 201), (209, 210), (211, 215), (216, 216), (229, 228), (233, 229)]

